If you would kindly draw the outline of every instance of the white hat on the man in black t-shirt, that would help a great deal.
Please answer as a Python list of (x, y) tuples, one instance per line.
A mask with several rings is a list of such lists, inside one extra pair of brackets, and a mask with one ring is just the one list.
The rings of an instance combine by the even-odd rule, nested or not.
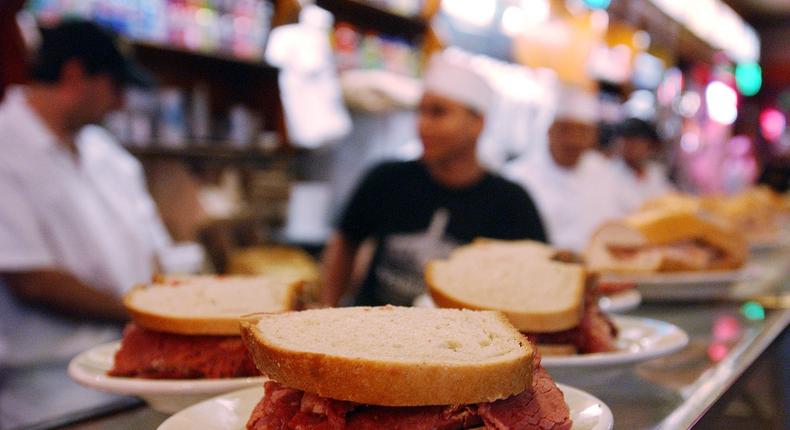
[(462, 103), (482, 115), (488, 112), (494, 101), (491, 86), (474, 71), (469, 60), (447, 53), (431, 57), (423, 88)]

